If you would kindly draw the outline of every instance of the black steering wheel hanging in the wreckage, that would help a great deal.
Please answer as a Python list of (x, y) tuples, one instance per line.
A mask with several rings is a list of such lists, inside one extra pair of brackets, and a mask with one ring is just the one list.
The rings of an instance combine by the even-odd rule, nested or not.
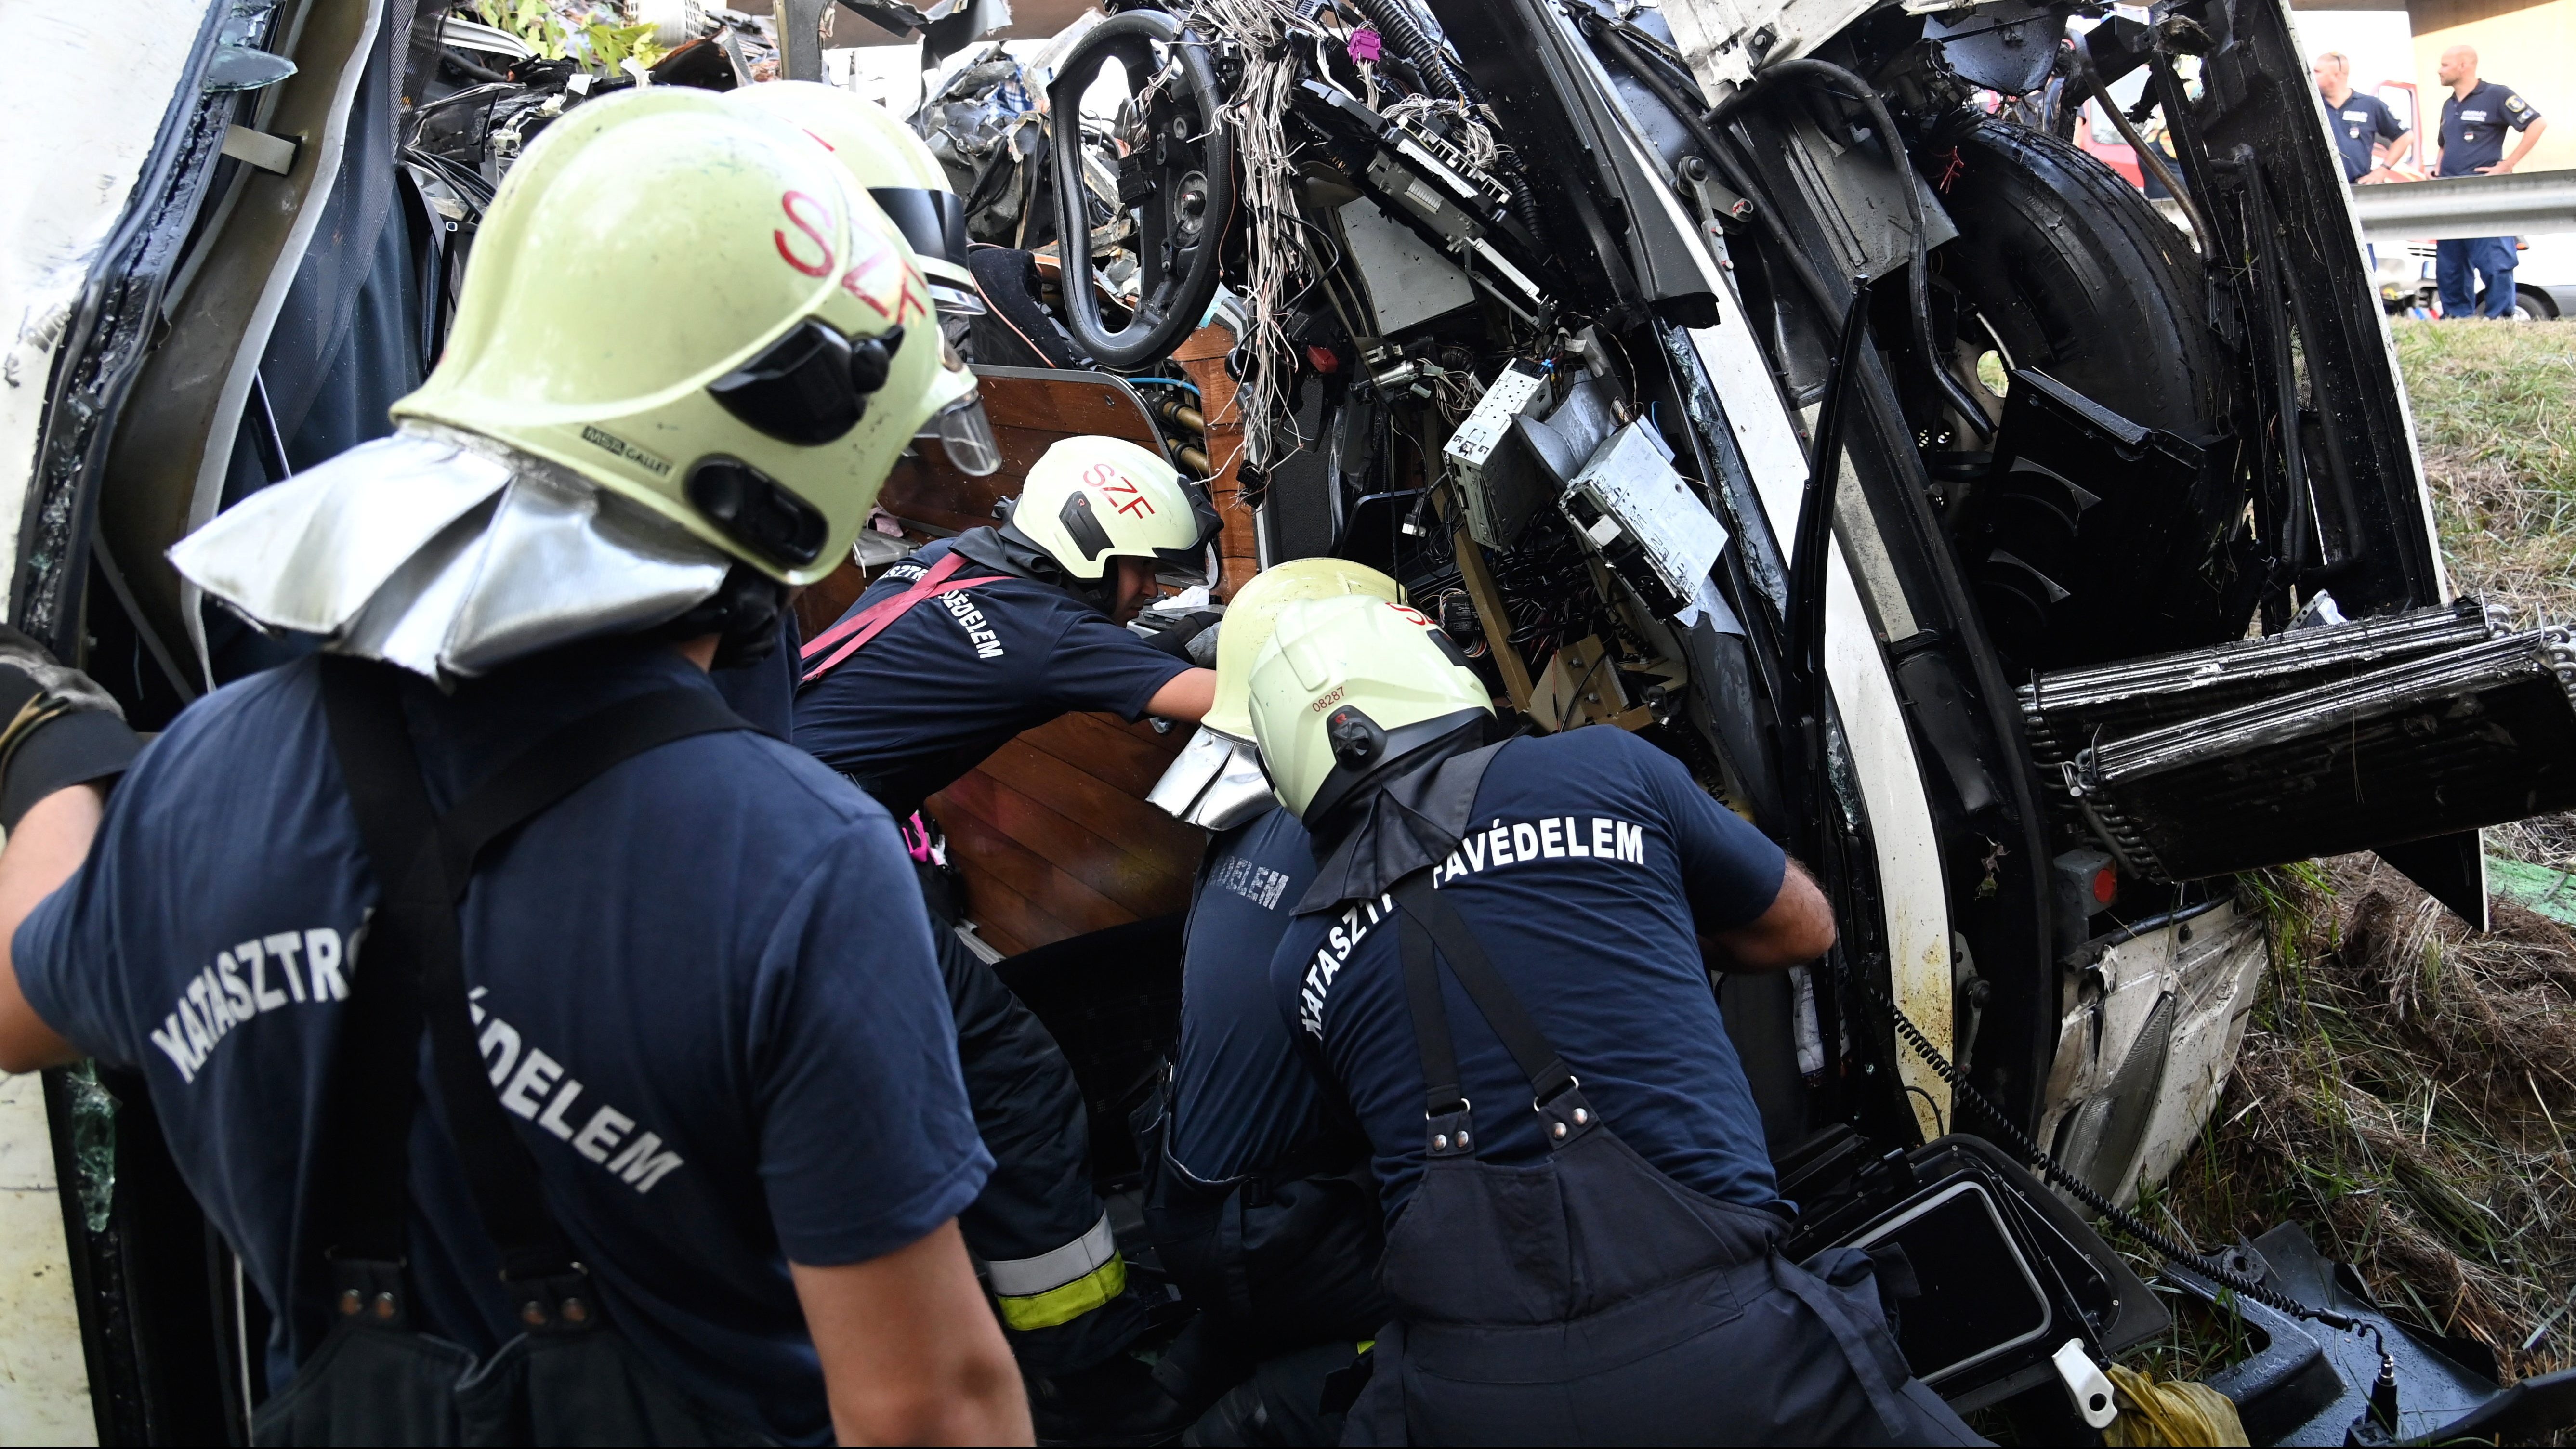
[[(1090, 268), (1090, 208), (1082, 185), (1082, 93), (1105, 62), (1128, 77), (1136, 131), (1118, 160), (1118, 206), (1136, 211), (1136, 311), (1126, 327), (1100, 322)], [(1177, 75), (1151, 85), (1164, 67)], [(1108, 368), (1139, 368), (1198, 329), (1216, 299), (1216, 263), (1234, 221), (1234, 134), (1218, 124), (1224, 88), (1200, 39), (1182, 41), (1162, 10), (1110, 15), (1074, 44), (1056, 72), (1056, 237), (1064, 252), (1064, 314), (1074, 342)], [(1074, 242), (1082, 239), (1077, 247)]]

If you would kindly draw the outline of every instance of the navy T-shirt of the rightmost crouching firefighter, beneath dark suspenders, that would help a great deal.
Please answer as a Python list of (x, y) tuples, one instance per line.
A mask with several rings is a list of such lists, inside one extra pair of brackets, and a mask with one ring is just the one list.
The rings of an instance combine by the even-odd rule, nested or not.
[[(1770, 909), (1788, 867), (1780, 847), (1623, 728), (1504, 744), (1471, 818), (1473, 834), (1432, 867), (1432, 883), (1592, 1107), (1672, 1179), (1721, 1202), (1770, 1204), (1762, 1114), (1695, 937)], [(1476, 1107), (1476, 1156), (1546, 1156), (1530, 1081), (1445, 965), (1440, 981)], [(1394, 1220), (1422, 1179), (1425, 1091), (1394, 903), (1298, 916), (1270, 986), (1360, 1117)]]

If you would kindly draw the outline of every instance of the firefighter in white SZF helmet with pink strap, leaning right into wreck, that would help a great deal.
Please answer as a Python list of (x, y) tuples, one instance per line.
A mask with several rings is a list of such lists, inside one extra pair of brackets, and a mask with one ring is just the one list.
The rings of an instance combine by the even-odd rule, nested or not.
[[(1020, 731), (1069, 710), (1198, 721), (1213, 633), (1159, 646), (1126, 628), (1159, 569), (1206, 574), (1206, 486), (1118, 438), (1064, 438), (1030, 466), (999, 525), (886, 569), (804, 646), (796, 744), (902, 821)], [(1213, 615), (1208, 615), (1213, 618)], [(943, 893), (935, 880), (925, 883)], [(1002, 1323), (1030, 1374), (1041, 1431), (1131, 1439), (1177, 1431), (1172, 1400), (1123, 1354), (1146, 1328), (1092, 1189), (1090, 1120), (1072, 1066), (933, 898), (940, 968), (976, 1125), (997, 1168), (966, 1212)]]

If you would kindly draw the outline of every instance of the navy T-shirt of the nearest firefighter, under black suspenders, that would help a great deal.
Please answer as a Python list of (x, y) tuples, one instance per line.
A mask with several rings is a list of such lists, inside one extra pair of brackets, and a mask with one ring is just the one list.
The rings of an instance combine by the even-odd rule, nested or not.
[[(273, 1307), (270, 1387), (330, 1328), (294, 1241), (343, 1001), (379, 891), (304, 659), (191, 705), (118, 785), (88, 865), (15, 934), (57, 1032), (139, 1068), (188, 1189)], [(670, 649), (574, 646), (453, 697), (407, 682), (435, 808), (603, 703), (714, 690)], [(788, 1259), (920, 1241), (992, 1158), (912, 862), (788, 744), (665, 744), (484, 854), (464, 970), (502, 1107), (611, 1320), (708, 1408), (788, 1441), (832, 1421)], [(425, 1328), (518, 1333), (433, 1120), (412, 1130)], [(301, 1246), (312, 1248), (312, 1246)]]

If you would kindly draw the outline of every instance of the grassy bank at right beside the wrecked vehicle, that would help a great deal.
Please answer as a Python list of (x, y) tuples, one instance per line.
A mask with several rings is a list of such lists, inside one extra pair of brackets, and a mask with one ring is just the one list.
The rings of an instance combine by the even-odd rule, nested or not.
[[(2576, 620), (2576, 324), (2396, 342), (2452, 589)], [(2576, 816), (2488, 849), (2576, 865)], [(2241, 891), (2272, 970), (2200, 1150), (2143, 1207), (2205, 1248), (2308, 1223), (2385, 1307), (2483, 1338), (2509, 1377), (2576, 1367), (2576, 934), (2504, 898), (2473, 934), (2370, 854)], [(2202, 1315), (2156, 1367), (2231, 1356)]]

